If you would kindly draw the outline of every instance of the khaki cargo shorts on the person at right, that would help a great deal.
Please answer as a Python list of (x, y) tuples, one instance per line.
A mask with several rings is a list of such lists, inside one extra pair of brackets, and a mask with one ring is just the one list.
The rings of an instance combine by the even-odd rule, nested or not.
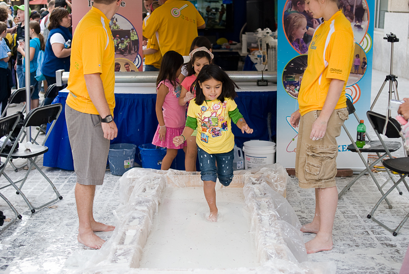
[(335, 186), (337, 174), (338, 144), (336, 137), (348, 119), (346, 108), (334, 110), (329, 118), (325, 136), (313, 141), (310, 138), (312, 124), (321, 111), (311, 111), (301, 116), (295, 157), (295, 176), (301, 188)]

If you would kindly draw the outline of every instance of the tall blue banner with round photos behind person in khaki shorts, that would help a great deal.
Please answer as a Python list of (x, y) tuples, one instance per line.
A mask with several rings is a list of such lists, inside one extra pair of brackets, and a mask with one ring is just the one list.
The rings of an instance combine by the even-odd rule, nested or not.
[[(355, 36), (354, 61), (346, 87), (346, 96), (356, 109), (358, 117), (370, 127), (366, 112), (370, 109), (372, 81), (372, 37), (374, 33), (374, 0), (340, 0), (345, 17), (351, 22)], [(294, 167), (298, 128), (289, 123), (291, 114), (298, 109), (297, 96), (308, 50), (315, 29), (322, 23), (305, 10), (304, 0), (278, 2), (278, 64), (277, 64), (277, 162)], [(358, 122), (353, 115), (345, 122), (353, 138)], [(351, 140), (341, 130), (338, 142), (338, 168), (363, 170), (358, 153), (347, 150)]]

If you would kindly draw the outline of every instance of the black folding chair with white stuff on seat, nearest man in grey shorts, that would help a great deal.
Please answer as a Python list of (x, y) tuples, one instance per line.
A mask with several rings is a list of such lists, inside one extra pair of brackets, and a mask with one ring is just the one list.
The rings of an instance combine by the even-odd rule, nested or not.
[[(7, 181), (10, 183), (7, 186), (12, 185), (16, 190), (16, 194), (20, 194), (22, 196), (22, 198), (24, 199), (24, 201), (26, 202), (26, 204), (28, 205), (28, 207), (31, 210), (31, 213), (34, 213), (36, 209), (40, 209), (43, 208), (55, 201), (57, 201), (58, 199), (62, 199), (62, 196), (60, 195), (60, 193), (58, 192), (58, 190), (55, 188), (54, 184), (51, 182), (51, 180), (47, 177), (47, 175), (44, 174), (44, 172), (38, 167), (38, 165), (35, 163), (35, 161), (37, 160), (37, 157), (39, 155), (44, 154), (45, 152), (48, 151), (48, 147), (46, 147), (44, 145), (45, 141), (47, 140), (48, 136), (50, 135), (55, 122), (57, 121), (60, 113), (62, 111), (62, 105), (61, 104), (54, 104), (54, 105), (49, 105), (49, 106), (44, 106), (44, 107), (39, 107), (36, 109), (31, 110), (28, 114), (27, 117), (24, 120), (24, 124), (18, 134), (18, 137), (16, 140), (19, 140), (20, 137), (23, 135), (23, 133), (25, 132), (25, 129), (27, 127), (37, 127), (40, 126), (42, 124), (45, 123), (51, 123), (50, 129), (48, 131), (48, 133), (46, 134), (44, 141), (41, 143), (41, 145), (35, 145), (34, 147), (32, 147), (31, 149), (23, 149), (22, 147), (20, 149), (18, 149), (17, 151), (14, 151), (14, 148), (16, 147), (16, 142), (14, 142), (13, 147), (11, 148), (11, 151), (6, 154), (6, 153), (0, 153), (1, 157), (6, 157), (5, 161), (4, 161), (4, 165), (7, 164), (7, 162), (10, 159), (15, 159), (15, 158), (24, 158), (27, 159), (30, 162), (30, 166), (28, 167), (28, 170), (24, 176), (23, 179), (18, 180), (13, 182), (8, 176), (7, 174), (4, 173), (4, 168), (0, 171), (0, 175), (2, 174)], [(25, 181), (27, 180), (27, 177), (31, 171), (32, 167), (35, 167), (38, 172), (40, 172), (40, 174), (48, 181), (48, 183), (51, 185), (51, 187), (53, 188), (57, 198), (55, 198), (52, 201), (49, 201), (43, 205), (40, 205), (38, 207), (34, 207), (30, 201), (28, 201), (28, 199), (26, 198), (26, 196), (24, 195), (24, 193), (21, 191), (21, 188), (23, 187)], [(19, 183), (20, 187), (17, 187), (16, 183)]]

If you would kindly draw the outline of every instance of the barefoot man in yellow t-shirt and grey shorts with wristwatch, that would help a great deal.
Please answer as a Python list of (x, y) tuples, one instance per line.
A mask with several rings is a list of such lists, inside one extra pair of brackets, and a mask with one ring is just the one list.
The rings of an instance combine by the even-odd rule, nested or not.
[(94, 0), (94, 6), (75, 29), (71, 49), (65, 119), (77, 175), (77, 239), (94, 249), (100, 249), (105, 242), (94, 231), (115, 229), (96, 222), (92, 206), (95, 186), (104, 181), (110, 140), (118, 134), (112, 118), (115, 47), (108, 18), (117, 13), (120, 3), (119, 0)]

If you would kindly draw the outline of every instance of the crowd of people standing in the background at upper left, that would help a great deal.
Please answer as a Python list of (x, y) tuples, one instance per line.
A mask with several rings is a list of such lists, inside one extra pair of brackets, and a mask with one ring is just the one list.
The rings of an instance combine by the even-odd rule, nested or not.
[[(25, 78), (30, 78), (33, 86), (31, 108), (39, 105), (39, 92), (45, 92), (49, 85), (55, 84), (55, 71), (70, 68), (70, 43), (72, 40), (71, 8), (69, 0), (49, 0), (48, 7), (40, 11), (28, 8), (29, 18), (25, 18), (25, 6), (11, 6), (0, 2), (1, 29), (6, 28), (1, 45), (7, 58), (1, 59), (4, 75), (9, 75), (1, 81), (3, 103), (11, 94), (12, 89), (25, 87)], [(13, 16), (14, 15), (14, 16)], [(27, 20), (28, 19), (28, 20)], [(29, 28), (29, 60), (30, 72), (25, 70), (26, 52), (24, 29)], [(0, 30), (1, 30), (0, 29)], [(40, 52), (44, 58), (38, 58)], [(5, 61), (6, 59), (6, 61)], [(53, 98), (47, 98), (45, 104), (50, 104)], [(2, 110), (5, 104), (2, 104)]]

